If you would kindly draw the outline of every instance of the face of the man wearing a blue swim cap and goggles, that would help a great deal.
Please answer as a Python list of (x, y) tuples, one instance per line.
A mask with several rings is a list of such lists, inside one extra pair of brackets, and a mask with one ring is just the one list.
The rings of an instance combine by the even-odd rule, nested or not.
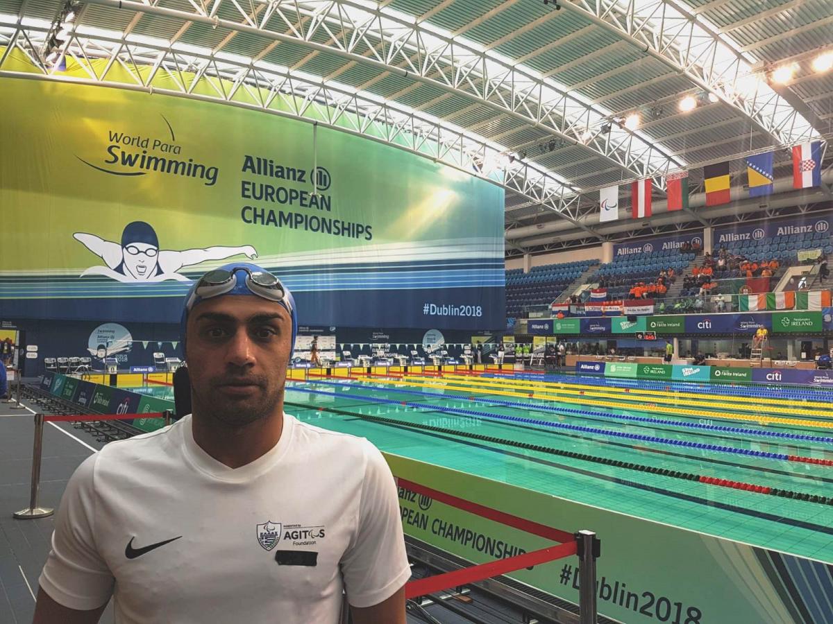
[(278, 414), (292, 349), (292, 319), (254, 295), (205, 300), (187, 321), (192, 404), (200, 418), (227, 426)]

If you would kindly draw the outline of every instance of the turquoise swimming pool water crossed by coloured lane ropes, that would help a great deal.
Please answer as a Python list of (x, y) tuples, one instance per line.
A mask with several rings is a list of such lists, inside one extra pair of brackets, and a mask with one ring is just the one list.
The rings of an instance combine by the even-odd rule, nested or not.
[(285, 400), (389, 453), (833, 562), (827, 391), (444, 374), (287, 382)]

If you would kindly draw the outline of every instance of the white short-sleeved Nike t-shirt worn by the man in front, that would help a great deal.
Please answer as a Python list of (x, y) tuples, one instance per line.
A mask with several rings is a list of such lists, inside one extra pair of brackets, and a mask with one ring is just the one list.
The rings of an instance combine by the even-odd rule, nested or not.
[(40, 585), (118, 624), (338, 622), (411, 576), (397, 489), (364, 438), (286, 414), (241, 468), (194, 442), (191, 416), (107, 444), (67, 483)]

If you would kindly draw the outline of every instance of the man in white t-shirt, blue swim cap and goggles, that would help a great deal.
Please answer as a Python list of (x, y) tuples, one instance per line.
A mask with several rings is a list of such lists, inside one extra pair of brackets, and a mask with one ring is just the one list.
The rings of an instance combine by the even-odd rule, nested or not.
[[(238, 295), (238, 296), (227, 296)], [(396, 485), (364, 438), (283, 413), (292, 295), (256, 265), (203, 275), (182, 338), (193, 413), (72, 475), (35, 624), (404, 624)]]

